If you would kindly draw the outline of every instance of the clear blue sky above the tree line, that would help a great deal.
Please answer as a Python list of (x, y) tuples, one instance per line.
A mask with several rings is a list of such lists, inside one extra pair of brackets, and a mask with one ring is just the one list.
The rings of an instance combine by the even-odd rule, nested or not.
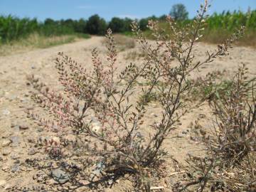
[[(0, 0), (0, 14), (38, 18), (88, 18), (99, 14), (107, 21), (113, 16), (143, 18), (169, 14), (171, 6), (185, 4), (189, 17), (196, 14), (203, 0)], [(223, 10), (256, 9), (256, 0), (210, 0), (209, 14)]]

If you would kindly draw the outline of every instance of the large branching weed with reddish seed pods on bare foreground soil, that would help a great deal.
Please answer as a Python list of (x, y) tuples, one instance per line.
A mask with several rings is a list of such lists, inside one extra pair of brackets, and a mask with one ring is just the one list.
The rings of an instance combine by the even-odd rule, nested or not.
[[(44, 127), (57, 132), (60, 140), (45, 141), (52, 157), (47, 160), (47, 166), (43, 160), (28, 160), (28, 163), (47, 169), (48, 176), (55, 175), (53, 169), (56, 167), (62, 169), (68, 174), (69, 179), (65, 181), (69, 182), (69, 190), (81, 186), (99, 189), (100, 185), (108, 186), (130, 175), (136, 178), (138, 188), (151, 191), (154, 178), (164, 176), (164, 156), (167, 154), (164, 140), (186, 112), (181, 95), (188, 91), (185, 83), (188, 75), (204, 63), (224, 56), (230, 43), (240, 35), (237, 33), (217, 50), (208, 52), (206, 60), (196, 63), (193, 47), (202, 36), (208, 6), (208, 1), (201, 5), (191, 31), (177, 27), (168, 16), (166, 20), (174, 36), (171, 41), (169, 35), (157, 28), (155, 21), (149, 21), (149, 28), (156, 37), (154, 43), (146, 41), (133, 23), (132, 30), (146, 55), (142, 64), (131, 63), (120, 74), (116, 70), (117, 50), (111, 30), (106, 36), (107, 64), (94, 49), (92, 71), (59, 53), (55, 67), (65, 91), (54, 92), (31, 78), (31, 84), (38, 90), (34, 100), (51, 116), (42, 118), (33, 112), (29, 114)], [(138, 86), (138, 82), (146, 83)], [(150, 100), (141, 102), (141, 98), (154, 94), (158, 95), (161, 119), (149, 126), (144, 114)], [(100, 126), (93, 126), (92, 115)], [(75, 141), (67, 139), (70, 134)]]

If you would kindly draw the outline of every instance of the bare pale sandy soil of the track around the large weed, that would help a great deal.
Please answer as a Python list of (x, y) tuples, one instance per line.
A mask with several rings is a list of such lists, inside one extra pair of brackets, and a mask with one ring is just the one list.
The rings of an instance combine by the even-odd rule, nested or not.
[[(26, 109), (35, 107), (31, 101), (31, 87), (26, 85), (27, 75), (34, 74), (48, 85), (58, 89), (57, 73), (54, 69), (54, 59), (59, 51), (70, 55), (78, 63), (90, 66), (92, 48), (99, 48), (103, 52), (102, 38), (92, 37), (85, 41), (70, 43), (53, 48), (33, 50), (27, 53), (9, 55), (0, 58), (0, 191), (7, 191), (11, 186), (32, 186), (36, 183), (36, 171), (26, 167), (24, 161), (33, 156), (40, 156), (33, 148), (35, 141), (46, 134), (45, 130), (38, 127), (33, 121), (26, 118)], [(206, 50), (213, 50), (215, 46), (199, 43), (196, 54), (201, 59)], [(131, 60), (125, 60), (130, 50), (122, 51), (118, 56), (119, 70), (129, 64)], [(233, 74), (238, 65), (245, 63), (250, 68), (250, 75), (256, 75), (256, 50), (252, 48), (236, 47), (230, 50), (230, 55), (225, 58), (217, 58), (213, 63), (205, 65), (198, 75), (206, 75), (213, 70), (227, 70), (227, 74)], [(147, 114), (149, 122), (159, 118), (157, 106), (151, 107)], [(186, 154), (199, 153), (202, 146), (195, 139), (191, 139), (191, 122), (198, 120), (206, 129), (212, 126), (212, 115), (208, 104), (201, 105), (188, 111), (182, 119), (182, 124), (166, 139), (165, 146), (170, 156), (174, 156), (180, 162), (186, 158)], [(171, 165), (171, 159), (166, 159), (170, 164), (169, 170), (175, 171)], [(164, 187), (171, 191), (169, 184), (172, 176), (166, 178)], [(119, 183), (112, 191), (126, 191), (124, 185)]]

